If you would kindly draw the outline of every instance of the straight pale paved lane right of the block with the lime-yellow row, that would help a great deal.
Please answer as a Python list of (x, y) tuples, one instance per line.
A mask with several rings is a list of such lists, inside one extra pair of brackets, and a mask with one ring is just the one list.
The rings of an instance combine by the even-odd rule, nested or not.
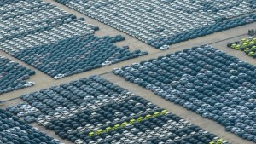
[(108, 73), (102, 75), (103, 78), (107, 78), (114, 84), (124, 87), (125, 89), (130, 90), (132, 93), (142, 96), (143, 98), (151, 101), (152, 103), (165, 108), (166, 110), (177, 114), (178, 116), (189, 120), (191, 123), (200, 126), (202, 129), (212, 132), (215, 135), (223, 138), (226, 141), (230, 141), (232, 144), (253, 144), (253, 142), (245, 141), (240, 137), (226, 132), (224, 127), (212, 120), (202, 118), (200, 115), (195, 112), (188, 111), (187, 109), (176, 105), (170, 101), (166, 101), (158, 95), (154, 95), (153, 92), (143, 89), (142, 87), (137, 86), (137, 84), (132, 84), (126, 82), (124, 79), (119, 79), (118, 76), (115, 76), (113, 73)]

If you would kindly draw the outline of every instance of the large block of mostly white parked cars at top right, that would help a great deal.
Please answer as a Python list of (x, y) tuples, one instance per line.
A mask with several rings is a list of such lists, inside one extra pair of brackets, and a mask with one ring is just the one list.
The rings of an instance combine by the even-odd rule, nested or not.
[(254, 0), (55, 0), (155, 48), (256, 20)]

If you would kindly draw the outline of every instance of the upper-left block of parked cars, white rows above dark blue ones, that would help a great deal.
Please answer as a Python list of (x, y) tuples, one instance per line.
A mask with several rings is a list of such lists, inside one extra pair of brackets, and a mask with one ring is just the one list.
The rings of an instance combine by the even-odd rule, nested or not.
[(115, 46), (123, 36), (94, 36), (98, 27), (41, 0), (4, 1), (0, 15), (0, 49), (55, 79), (148, 54)]

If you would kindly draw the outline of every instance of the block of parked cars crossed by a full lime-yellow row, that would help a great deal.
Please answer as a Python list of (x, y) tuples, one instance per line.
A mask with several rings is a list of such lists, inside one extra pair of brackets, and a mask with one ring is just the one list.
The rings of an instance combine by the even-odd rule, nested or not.
[(20, 98), (17, 107), (38, 109), (38, 124), (76, 144), (228, 143), (99, 76)]

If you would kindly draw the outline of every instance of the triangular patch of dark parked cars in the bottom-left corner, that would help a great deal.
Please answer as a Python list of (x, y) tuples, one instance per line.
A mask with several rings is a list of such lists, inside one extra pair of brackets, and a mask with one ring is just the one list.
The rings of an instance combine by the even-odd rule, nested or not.
[(0, 109), (0, 143), (63, 144), (3, 109)]

